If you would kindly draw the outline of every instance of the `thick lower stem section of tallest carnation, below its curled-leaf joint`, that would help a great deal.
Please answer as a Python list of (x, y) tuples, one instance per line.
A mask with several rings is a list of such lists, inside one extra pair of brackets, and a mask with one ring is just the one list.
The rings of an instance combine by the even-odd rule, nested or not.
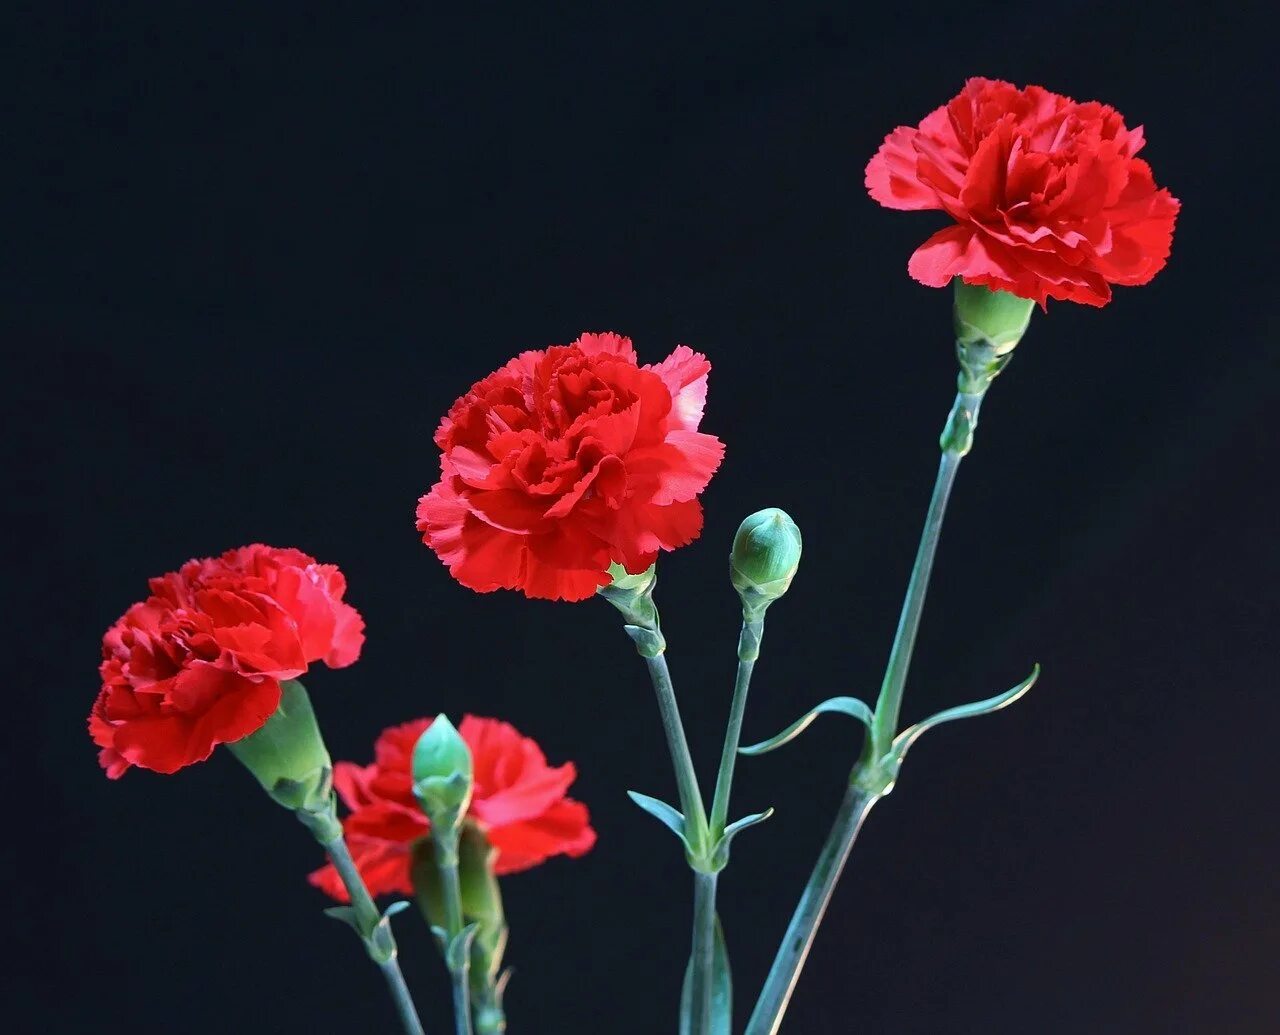
[(746, 1022), (746, 1035), (774, 1035), (781, 1027), (782, 1015), (791, 1000), (800, 970), (813, 947), (818, 925), (831, 902), (836, 881), (840, 880), (840, 874), (845, 869), (845, 861), (858, 838), (858, 830), (878, 800), (879, 794), (868, 793), (852, 784), (845, 791), (845, 798), (836, 814), (836, 823), (827, 835), (827, 843), (822, 846), (822, 853), (813, 867), (813, 875), (805, 885), (804, 894), (800, 896), (800, 903), (796, 906), (787, 933), (778, 947), (778, 954), (769, 968), (769, 976), (760, 990), (760, 998), (755, 1002), (751, 1020)]

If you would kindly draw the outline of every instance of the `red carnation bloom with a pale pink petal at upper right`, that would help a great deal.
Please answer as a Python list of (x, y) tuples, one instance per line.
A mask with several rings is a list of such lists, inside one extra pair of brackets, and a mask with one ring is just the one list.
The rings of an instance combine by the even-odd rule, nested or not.
[(724, 454), (698, 430), (709, 370), (685, 345), (637, 366), (617, 334), (521, 353), (440, 422), (424, 542), (463, 586), (552, 600), (609, 585), (611, 562), (639, 573), (691, 542)]

